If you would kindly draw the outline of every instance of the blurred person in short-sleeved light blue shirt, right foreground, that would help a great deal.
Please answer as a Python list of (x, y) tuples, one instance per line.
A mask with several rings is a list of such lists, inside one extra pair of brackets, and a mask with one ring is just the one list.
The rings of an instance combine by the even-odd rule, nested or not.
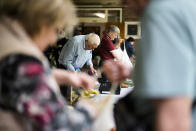
[[(138, 14), (145, 12), (135, 88), (116, 104), (117, 130), (195, 131), (196, 1), (125, 2)], [(115, 66), (111, 61), (104, 65), (112, 80), (127, 76), (121, 72), (122, 65)]]

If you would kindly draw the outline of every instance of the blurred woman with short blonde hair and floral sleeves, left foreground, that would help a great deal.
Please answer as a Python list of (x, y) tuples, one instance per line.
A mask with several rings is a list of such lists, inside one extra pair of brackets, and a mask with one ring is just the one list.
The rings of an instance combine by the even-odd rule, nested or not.
[[(58, 84), (94, 87), (91, 77), (49, 68), (42, 51), (76, 24), (69, 0), (0, 1), (0, 130), (89, 131), (90, 105), (70, 110)], [(89, 107), (89, 108), (87, 108)]]

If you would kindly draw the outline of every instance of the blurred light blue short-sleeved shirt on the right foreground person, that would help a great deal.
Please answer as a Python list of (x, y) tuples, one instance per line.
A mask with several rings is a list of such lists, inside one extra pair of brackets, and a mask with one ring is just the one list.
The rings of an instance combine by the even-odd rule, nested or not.
[(144, 14), (137, 49), (137, 96), (195, 97), (196, 0), (152, 0)]

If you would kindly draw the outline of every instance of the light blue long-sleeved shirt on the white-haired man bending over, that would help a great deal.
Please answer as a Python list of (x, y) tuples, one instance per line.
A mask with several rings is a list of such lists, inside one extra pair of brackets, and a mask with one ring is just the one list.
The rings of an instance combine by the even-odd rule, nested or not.
[(58, 61), (70, 71), (74, 71), (74, 67), (82, 68), (85, 63), (88, 66), (92, 65), (92, 51), (85, 50), (85, 37), (85, 35), (72, 37), (61, 51)]

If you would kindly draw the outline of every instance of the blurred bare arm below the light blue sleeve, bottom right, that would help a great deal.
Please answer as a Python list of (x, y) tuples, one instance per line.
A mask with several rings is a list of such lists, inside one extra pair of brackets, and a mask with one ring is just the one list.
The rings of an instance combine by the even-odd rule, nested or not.
[(191, 131), (192, 101), (188, 97), (157, 100), (156, 131)]

